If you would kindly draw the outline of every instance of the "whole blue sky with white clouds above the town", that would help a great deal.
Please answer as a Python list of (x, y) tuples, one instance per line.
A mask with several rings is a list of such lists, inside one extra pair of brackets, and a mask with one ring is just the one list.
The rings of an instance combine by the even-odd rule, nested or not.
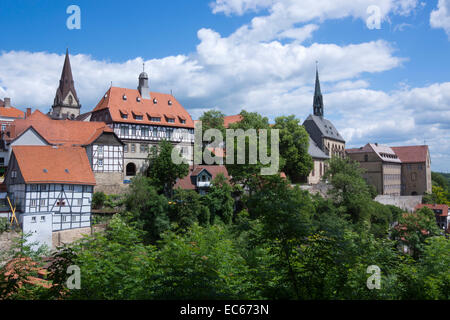
[(318, 61), (347, 147), (425, 143), (450, 172), (450, 0), (15, 0), (0, 30), (0, 98), (23, 110), (50, 110), (68, 48), (82, 112), (111, 83), (136, 88), (145, 63), (150, 90), (194, 119), (303, 122)]

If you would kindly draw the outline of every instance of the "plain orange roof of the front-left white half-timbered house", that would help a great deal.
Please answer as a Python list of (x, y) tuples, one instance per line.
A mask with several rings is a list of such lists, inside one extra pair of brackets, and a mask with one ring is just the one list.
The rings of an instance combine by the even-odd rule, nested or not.
[(14, 146), (12, 153), (25, 183), (95, 185), (82, 147)]

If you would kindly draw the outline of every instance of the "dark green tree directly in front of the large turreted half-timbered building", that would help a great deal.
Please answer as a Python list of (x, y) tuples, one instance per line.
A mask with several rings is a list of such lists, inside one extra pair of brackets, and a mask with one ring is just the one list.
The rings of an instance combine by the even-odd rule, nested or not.
[(163, 140), (159, 143), (158, 148), (151, 148), (148, 157), (147, 176), (156, 190), (167, 197), (172, 196), (177, 179), (184, 178), (189, 173), (187, 163), (176, 164), (172, 161), (172, 150), (172, 144)]

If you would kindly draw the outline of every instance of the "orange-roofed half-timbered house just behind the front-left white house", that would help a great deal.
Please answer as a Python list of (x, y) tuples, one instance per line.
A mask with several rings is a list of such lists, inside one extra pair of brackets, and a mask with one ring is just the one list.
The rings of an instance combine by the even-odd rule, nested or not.
[(97, 181), (95, 191), (118, 193), (123, 186), (123, 143), (104, 122), (54, 120), (36, 110), (12, 123), (5, 145), (9, 154), (14, 146), (82, 147)]

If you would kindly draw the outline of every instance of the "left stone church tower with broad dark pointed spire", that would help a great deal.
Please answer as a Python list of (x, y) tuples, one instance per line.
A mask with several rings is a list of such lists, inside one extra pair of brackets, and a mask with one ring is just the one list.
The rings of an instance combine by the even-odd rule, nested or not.
[(69, 50), (66, 50), (66, 58), (56, 90), (55, 100), (49, 115), (53, 119), (75, 119), (80, 115), (81, 104), (72, 77)]

